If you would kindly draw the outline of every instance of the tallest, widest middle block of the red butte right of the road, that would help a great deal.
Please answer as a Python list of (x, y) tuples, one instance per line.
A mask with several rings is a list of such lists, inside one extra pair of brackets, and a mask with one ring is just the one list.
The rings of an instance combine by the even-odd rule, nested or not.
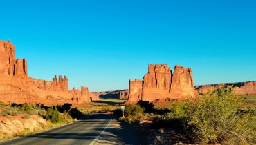
[(149, 64), (149, 70), (143, 78), (143, 95), (145, 101), (170, 96), (172, 71), (167, 64)]

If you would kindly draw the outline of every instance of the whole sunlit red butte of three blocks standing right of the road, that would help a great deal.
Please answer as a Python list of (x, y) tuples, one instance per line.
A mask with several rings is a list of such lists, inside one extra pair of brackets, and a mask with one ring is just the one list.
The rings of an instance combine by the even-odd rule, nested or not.
[[(147, 74), (144, 76), (141, 88), (143, 101), (154, 101), (155, 99), (183, 99), (194, 97), (194, 81), (191, 68), (175, 66), (174, 74), (167, 64), (149, 64)], [(140, 97), (134, 97), (133, 90), (138, 86), (129, 83), (129, 99), (127, 103), (136, 103)]]

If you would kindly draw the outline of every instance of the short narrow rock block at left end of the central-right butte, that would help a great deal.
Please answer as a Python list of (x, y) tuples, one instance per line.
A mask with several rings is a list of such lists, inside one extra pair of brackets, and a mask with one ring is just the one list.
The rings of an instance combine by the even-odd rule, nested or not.
[(125, 104), (135, 104), (142, 99), (143, 81), (129, 79), (129, 97)]

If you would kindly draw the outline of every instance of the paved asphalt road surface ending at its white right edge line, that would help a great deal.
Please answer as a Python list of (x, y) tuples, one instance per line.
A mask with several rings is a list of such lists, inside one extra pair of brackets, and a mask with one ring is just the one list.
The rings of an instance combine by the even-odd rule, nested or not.
[(80, 120), (58, 128), (12, 139), (0, 144), (98, 144), (103, 133), (111, 125), (108, 114), (92, 114), (89, 119)]

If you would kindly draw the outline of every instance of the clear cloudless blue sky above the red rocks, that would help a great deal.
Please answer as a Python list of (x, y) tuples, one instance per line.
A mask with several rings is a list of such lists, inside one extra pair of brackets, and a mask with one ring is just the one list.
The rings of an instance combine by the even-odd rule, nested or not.
[(148, 64), (192, 68), (194, 84), (256, 81), (256, 1), (0, 0), (0, 39), (30, 77), (120, 90)]

